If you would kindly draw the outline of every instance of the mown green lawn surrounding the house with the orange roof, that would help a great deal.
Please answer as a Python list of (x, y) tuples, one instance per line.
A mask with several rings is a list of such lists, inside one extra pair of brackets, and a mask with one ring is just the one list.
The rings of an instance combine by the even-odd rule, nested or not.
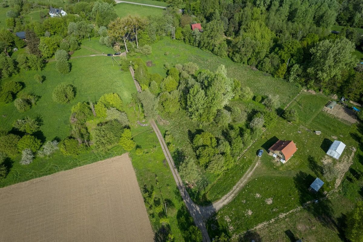
[[(258, 159), (257, 150), (264, 150), (261, 164), (250, 181), (231, 203), (217, 213), (215, 219), (209, 220), (208, 229), (211, 235), (223, 231), (230, 235), (240, 234), (261, 222), (277, 217), (280, 213), (322, 197), (323, 191), (329, 192), (334, 188), (335, 180), (328, 182), (323, 176), (322, 160), (325, 159), (325, 153), (335, 139), (347, 145), (339, 161), (348, 159), (352, 153), (351, 148), (358, 145), (354, 138), (358, 131), (355, 125), (348, 126), (320, 111), (326, 100), (327, 98), (320, 94), (303, 93), (292, 105), (297, 109), (301, 120), (289, 124), (284, 119), (278, 118), (276, 126), (267, 130), (244, 154), (241, 160), (246, 164), (255, 164)], [(315, 106), (314, 101), (316, 101)], [(322, 131), (322, 135), (314, 134), (313, 131), (317, 128)], [(293, 140), (297, 146), (297, 152), (286, 164), (274, 161), (268, 155), (268, 148), (277, 139)], [(321, 178), (325, 184), (318, 194), (312, 194), (307, 188), (316, 177)], [(231, 180), (223, 182), (235, 184), (236, 181), (237, 179), (233, 180), (231, 177)], [(216, 185), (222, 186), (222, 184), (218, 181)], [(223, 194), (221, 190), (220, 193), (210, 191), (207, 195), (216, 199)], [(272, 198), (271, 204), (266, 201), (268, 198)], [(308, 211), (315, 217), (323, 216), (323, 213), (333, 216), (334, 206), (327, 199), (319, 201), (317, 206), (311, 206)]]

